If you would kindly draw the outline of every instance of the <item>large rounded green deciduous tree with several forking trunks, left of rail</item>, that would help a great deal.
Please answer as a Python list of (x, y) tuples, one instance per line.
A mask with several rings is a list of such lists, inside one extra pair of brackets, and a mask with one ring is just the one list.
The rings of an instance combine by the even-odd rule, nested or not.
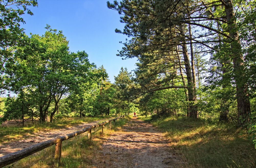
[[(68, 41), (61, 31), (49, 25), (46, 29), (42, 36), (27, 37), (30, 45), (19, 47), (6, 67), (9, 89), (18, 96), (24, 95), (20, 99), (27, 104), (27, 109), (35, 108), (41, 122), (46, 121), (48, 114), (52, 122), (63, 95), (81, 92), (87, 96), (84, 99), (78, 96), (80, 103), (85, 99), (93, 101), (88, 95), (95, 95), (95, 88), (106, 73), (89, 62), (85, 51), (70, 53)], [(84, 104), (83, 107), (90, 106)]]

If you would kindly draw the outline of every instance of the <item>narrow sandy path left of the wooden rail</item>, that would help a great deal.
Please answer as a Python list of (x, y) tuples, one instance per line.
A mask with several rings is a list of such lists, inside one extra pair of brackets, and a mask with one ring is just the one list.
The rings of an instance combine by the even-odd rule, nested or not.
[(98, 124), (99, 122), (103, 122), (106, 120), (108, 120), (108, 119), (102, 119), (100, 121), (94, 121), (94, 122), (90, 122), (90, 123), (83, 123), (83, 124), (79, 124), (79, 125), (74, 125), (72, 127), (66, 127), (63, 129), (51, 130), (48, 132), (39, 131), (35, 134), (27, 135), (26, 139), (22, 139), (19, 141), (11, 141), (9, 143), (0, 143), (0, 157), (4, 156), (6, 154), (24, 149), (26, 147), (32, 146), (36, 143), (47, 141), (47, 140), (54, 138), (58, 135), (66, 135), (66, 134), (81, 130), (90, 125)]

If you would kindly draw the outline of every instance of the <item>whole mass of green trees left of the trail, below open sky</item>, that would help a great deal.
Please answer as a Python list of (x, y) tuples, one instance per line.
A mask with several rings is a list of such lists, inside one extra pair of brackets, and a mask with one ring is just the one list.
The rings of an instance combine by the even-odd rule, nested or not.
[[(27, 36), (20, 23), (35, 0), (1, 1), (0, 122), (53, 122), (63, 117), (128, 114), (137, 110), (126, 96), (131, 80), (121, 69), (115, 84), (85, 51), (70, 52), (62, 31), (47, 25), (44, 35)], [(126, 90), (126, 91), (124, 91)]]

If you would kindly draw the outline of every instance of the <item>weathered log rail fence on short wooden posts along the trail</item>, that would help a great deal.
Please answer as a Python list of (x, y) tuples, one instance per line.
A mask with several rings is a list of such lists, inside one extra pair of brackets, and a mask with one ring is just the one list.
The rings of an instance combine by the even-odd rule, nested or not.
[(90, 127), (86, 127), (82, 130), (79, 130), (79, 131), (76, 131), (76, 132), (73, 132), (73, 133), (70, 133), (70, 134), (67, 134), (67, 135), (55, 137), (55, 138), (52, 138), (48, 141), (44, 141), (44, 142), (32, 145), (28, 148), (24, 148), (22, 150), (19, 150), (17, 152), (13, 152), (13, 153), (10, 153), (8, 155), (2, 156), (2, 157), (0, 157), (0, 167), (4, 167), (8, 164), (12, 164), (12, 163), (14, 163), (18, 160), (21, 160), (21, 159), (23, 159), (27, 156), (32, 155), (33, 153), (36, 153), (36, 152), (38, 152), (40, 150), (43, 150), (47, 147), (50, 147), (52, 145), (55, 145), (54, 167), (58, 167), (59, 164), (60, 164), (60, 158), (61, 158), (62, 141), (65, 141), (69, 138), (80, 135), (80, 134), (82, 134), (86, 131), (88, 131), (88, 139), (91, 139), (91, 132), (92, 132), (93, 128), (102, 127), (102, 133), (104, 133), (104, 128), (105, 128), (104, 125), (106, 123), (109, 123), (109, 127), (111, 129), (111, 121), (114, 121), (114, 122), (116, 120), (118, 121), (119, 118), (124, 118), (124, 116), (116, 117), (116, 118), (110, 119), (108, 121), (102, 122), (100, 124), (95, 124), (95, 125), (92, 125)]

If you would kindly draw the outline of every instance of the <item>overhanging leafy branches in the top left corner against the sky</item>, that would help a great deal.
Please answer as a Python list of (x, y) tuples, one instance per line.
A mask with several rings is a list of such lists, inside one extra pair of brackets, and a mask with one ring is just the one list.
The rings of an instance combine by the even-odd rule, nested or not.
[(0, 2), (0, 93), (7, 89), (6, 62), (12, 57), (16, 46), (27, 43), (24, 38), (24, 31), (20, 28), (20, 23), (25, 23), (22, 15), (25, 11), (33, 15), (29, 6), (37, 6), (37, 0), (3, 0)]

